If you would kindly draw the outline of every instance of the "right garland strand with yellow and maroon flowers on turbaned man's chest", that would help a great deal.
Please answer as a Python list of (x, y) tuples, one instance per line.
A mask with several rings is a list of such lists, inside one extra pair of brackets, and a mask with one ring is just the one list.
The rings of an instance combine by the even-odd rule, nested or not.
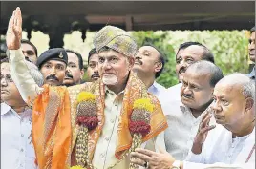
[[(154, 105), (149, 98), (140, 98), (134, 102), (133, 112), (129, 123), (129, 129), (133, 135), (133, 142), (129, 152), (134, 152), (139, 148), (142, 142), (142, 137), (147, 135), (150, 130), (151, 113), (154, 110)], [(130, 163), (129, 169), (136, 169), (136, 164)]]

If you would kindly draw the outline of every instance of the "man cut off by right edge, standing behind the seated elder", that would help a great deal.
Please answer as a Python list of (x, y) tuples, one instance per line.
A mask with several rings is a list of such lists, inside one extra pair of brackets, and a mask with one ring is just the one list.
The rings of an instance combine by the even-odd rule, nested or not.
[(248, 45), (249, 59), (254, 63), (254, 67), (248, 77), (255, 80), (255, 27), (250, 30), (250, 38)]

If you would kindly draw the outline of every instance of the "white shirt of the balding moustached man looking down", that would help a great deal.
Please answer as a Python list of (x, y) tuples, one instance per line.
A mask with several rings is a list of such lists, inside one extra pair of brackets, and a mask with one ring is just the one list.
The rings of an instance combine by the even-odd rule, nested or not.
[(181, 99), (167, 100), (162, 104), (168, 128), (164, 131), (166, 151), (174, 158), (183, 160), (188, 155), (197, 134), (202, 116), (195, 118)]

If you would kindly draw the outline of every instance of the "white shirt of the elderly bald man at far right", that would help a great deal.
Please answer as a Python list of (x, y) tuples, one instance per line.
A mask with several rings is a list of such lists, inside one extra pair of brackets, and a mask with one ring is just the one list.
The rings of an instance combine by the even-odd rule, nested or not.
[[(255, 167), (254, 145), (255, 129), (251, 134), (245, 137), (232, 138), (232, 133), (226, 130), (224, 126), (218, 124), (215, 129), (209, 131), (208, 136), (203, 143), (202, 153), (200, 155), (195, 155), (190, 151), (186, 160), (204, 164), (214, 164), (218, 162), (219, 166), (222, 165), (221, 163), (240, 164), (241, 168), (247, 169), (250, 168), (250, 166)], [(250, 153), (251, 157), (245, 165), (245, 161)], [(190, 165), (188, 164), (184, 169), (189, 169), (189, 166)], [(200, 166), (203, 165), (199, 164), (198, 168), (200, 168)]]

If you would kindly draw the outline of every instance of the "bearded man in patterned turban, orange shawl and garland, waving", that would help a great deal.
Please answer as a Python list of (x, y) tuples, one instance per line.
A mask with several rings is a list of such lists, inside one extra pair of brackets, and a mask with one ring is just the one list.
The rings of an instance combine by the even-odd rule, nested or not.
[(129, 150), (140, 142), (154, 145), (167, 123), (158, 99), (131, 72), (137, 45), (127, 32), (106, 26), (96, 33), (100, 80), (39, 88), (26, 74), (19, 49), (21, 24), (17, 8), (7, 46), (11, 77), (23, 99), (33, 103), (32, 140), (39, 168), (128, 168)]

